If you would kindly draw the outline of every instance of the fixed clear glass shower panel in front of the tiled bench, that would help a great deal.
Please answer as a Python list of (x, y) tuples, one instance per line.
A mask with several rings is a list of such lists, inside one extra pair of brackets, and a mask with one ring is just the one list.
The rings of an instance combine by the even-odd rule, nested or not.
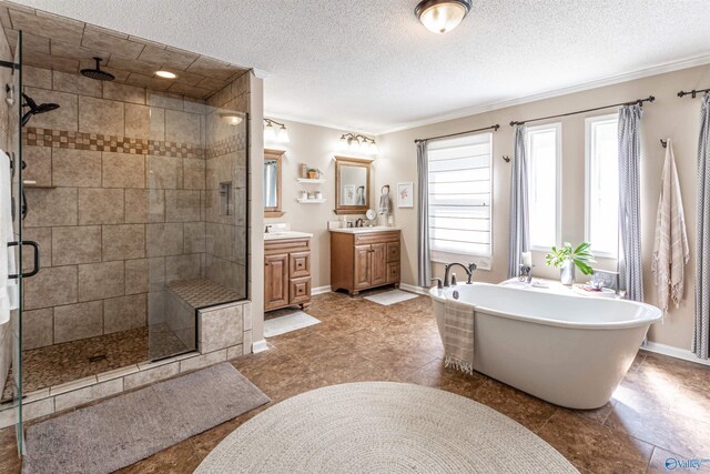
[(165, 108), (151, 114), (151, 360), (197, 350), (199, 311), (247, 295), (247, 118), (206, 104), (190, 108), (193, 113)]

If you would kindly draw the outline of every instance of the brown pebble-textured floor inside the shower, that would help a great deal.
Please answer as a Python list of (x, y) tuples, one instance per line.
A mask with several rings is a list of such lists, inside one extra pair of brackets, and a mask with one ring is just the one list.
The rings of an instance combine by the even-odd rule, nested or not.
[[(170, 330), (155, 329), (153, 349), (161, 353), (184, 352), (185, 346)], [(23, 392), (72, 382), (149, 360), (149, 329), (138, 327), (113, 334), (31, 349), (22, 353)], [(12, 369), (2, 400), (12, 399)]]

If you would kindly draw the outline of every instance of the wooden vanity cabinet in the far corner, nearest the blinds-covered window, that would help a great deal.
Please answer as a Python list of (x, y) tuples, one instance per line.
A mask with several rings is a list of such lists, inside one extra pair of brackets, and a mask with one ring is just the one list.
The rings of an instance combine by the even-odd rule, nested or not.
[(331, 290), (399, 286), (399, 231), (331, 232)]

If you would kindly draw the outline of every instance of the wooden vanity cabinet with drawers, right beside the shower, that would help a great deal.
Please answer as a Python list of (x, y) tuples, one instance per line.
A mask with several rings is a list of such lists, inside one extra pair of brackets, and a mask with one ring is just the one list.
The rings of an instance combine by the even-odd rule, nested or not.
[(264, 242), (264, 311), (311, 304), (311, 239)]

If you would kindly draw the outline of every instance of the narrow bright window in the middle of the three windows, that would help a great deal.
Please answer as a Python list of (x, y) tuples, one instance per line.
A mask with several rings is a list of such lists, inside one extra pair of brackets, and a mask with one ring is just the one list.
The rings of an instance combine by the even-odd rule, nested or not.
[(549, 251), (560, 239), (561, 123), (527, 131), (530, 248)]

